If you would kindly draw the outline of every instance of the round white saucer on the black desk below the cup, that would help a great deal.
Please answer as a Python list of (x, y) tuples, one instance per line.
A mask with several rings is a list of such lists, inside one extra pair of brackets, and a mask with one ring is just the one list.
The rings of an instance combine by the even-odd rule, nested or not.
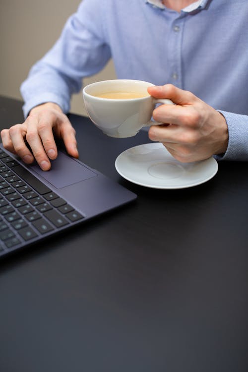
[(117, 157), (115, 166), (126, 180), (152, 188), (197, 186), (210, 180), (218, 171), (214, 158), (181, 163), (160, 142), (125, 150)]

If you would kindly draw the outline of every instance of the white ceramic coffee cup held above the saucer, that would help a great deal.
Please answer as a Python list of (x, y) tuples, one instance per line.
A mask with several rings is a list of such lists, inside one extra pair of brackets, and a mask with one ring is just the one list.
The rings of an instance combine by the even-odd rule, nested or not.
[[(105, 80), (87, 85), (83, 89), (83, 99), (92, 122), (110, 137), (132, 137), (143, 126), (159, 125), (151, 121), (157, 103), (172, 105), (169, 99), (155, 99), (147, 92), (154, 84), (140, 80)], [(103, 98), (109, 93), (140, 95), (138, 98)]]

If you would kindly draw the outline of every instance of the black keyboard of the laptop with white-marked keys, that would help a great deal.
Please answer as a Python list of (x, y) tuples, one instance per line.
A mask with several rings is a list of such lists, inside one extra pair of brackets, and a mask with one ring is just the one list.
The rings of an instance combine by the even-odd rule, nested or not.
[(0, 256), (84, 216), (0, 149)]

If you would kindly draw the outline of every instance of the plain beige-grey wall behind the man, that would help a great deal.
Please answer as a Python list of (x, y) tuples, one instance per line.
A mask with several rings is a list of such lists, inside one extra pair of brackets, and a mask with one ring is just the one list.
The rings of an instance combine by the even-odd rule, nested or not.
[[(19, 87), (32, 64), (60, 36), (80, 0), (0, 0), (0, 95), (21, 98)], [(100, 73), (84, 79), (84, 85), (114, 79), (110, 61)], [(74, 95), (71, 112), (86, 115), (81, 92)]]

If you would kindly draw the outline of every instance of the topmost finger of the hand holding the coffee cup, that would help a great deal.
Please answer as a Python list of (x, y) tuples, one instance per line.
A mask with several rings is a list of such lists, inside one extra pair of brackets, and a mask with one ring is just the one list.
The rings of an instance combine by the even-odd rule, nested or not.
[(148, 93), (155, 98), (169, 98), (177, 105), (192, 104), (197, 99), (191, 92), (177, 88), (173, 84), (151, 86)]

